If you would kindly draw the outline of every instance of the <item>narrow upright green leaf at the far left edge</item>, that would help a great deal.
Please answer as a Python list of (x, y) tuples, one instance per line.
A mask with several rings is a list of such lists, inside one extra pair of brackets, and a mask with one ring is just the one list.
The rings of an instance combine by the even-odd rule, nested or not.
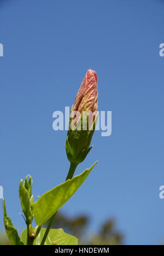
[(4, 200), (3, 200), (3, 216), (4, 216), (5, 231), (7, 232), (11, 245), (24, 245), (24, 243), (21, 242), (20, 237), (17, 234), (17, 230), (14, 228), (13, 223), (11, 222), (11, 219), (7, 216)]

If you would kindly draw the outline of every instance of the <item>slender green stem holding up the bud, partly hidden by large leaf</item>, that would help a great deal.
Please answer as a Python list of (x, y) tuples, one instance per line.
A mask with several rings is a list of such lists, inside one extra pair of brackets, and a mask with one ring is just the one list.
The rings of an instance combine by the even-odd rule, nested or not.
[[(73, 163), (71, 162), (71, 165), (70, 165), (70, 168), (69, 168), (69, 172), (68, 172), (66, 181), (67, 181), (67, 179), (72, 179), (72, 177), (73, 177), (73, 175), (74, 175), (74, 172), (75, 172), (77, 166), (78, 166), (77, 164), (73, 164)], [(52, 217), (50, 218), (50, 221), (49, 221), (48, 227), (46, 228), (46, 231), (45, 231), (43, 240), (42, 240), (42, 242), (41, 242), (41, 245), (44, 245), (45, 240), (46, 240), (46, 237), (48, 237), (48, 234), (49, 234), (49, 231), (50, 231), (50, 229), (51, 229), (51, 226), (52, 226), (52, 224), (54, 223), (54, 220), (55, 220), (55, 217), (56, 217), (56, 213), (57, 213), (57, 212), (55, 212), (54, 215), (52, 215)]]

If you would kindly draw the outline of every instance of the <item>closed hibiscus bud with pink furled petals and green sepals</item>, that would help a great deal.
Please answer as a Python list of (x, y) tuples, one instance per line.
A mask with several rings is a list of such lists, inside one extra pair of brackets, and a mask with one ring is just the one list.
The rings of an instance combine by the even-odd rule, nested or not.
[(89, 69), (75, 97), (69, 120), (66, 152), (74, 165), (83, 162), (92, 148), (90, 143), (98, 117), (97, 97), (97, 74)]

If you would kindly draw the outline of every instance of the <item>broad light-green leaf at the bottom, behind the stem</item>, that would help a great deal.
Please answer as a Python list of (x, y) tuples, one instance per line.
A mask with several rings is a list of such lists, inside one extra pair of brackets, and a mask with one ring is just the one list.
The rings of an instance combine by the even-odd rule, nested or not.
[[(32, 229), (34, 231), (34, 228)], [(34, 240), (33, 245), (40, 245), (46, 229), (41, 229), (39, 235)], [(27, 229), (21, 234), (21, 240), (26, 244)], [(78, 245), (78, 239), (74, 236), (66, 234), (63, 229), (50, 229), (44, 245)]]

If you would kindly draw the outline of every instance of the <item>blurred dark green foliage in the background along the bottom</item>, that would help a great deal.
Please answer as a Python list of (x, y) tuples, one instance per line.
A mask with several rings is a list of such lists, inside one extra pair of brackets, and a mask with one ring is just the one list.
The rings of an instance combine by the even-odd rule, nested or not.
[[(76, 236), (79, 239), (79, 245), (123, 244), (124, 236), (116, 230), (114, 219), (103, 222), (96, 234), (90, 234), (89, 224), (90, 218), (85, 214), (73, 218), (58, 212), (52, 228), (62, 228), (68, 234)], [(4, 234), (0, 234), (0, 245), (10, 245), (7, 236)]]

